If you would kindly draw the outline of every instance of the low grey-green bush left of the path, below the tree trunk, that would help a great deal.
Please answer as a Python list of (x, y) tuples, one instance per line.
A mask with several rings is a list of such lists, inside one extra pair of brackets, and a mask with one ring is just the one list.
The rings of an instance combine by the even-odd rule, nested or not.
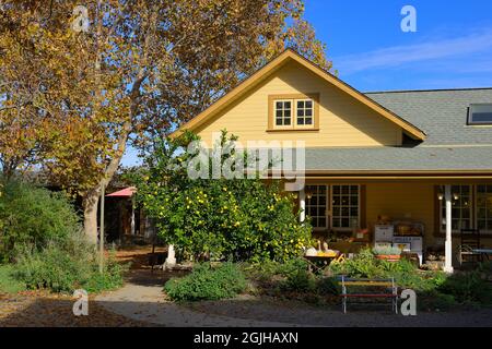
[(98, 272), (98, 255), (79, 233), (62, 242), (50, 242), (40, 250), (25, 248), (19, 255), (14, 276), (28, 289), (49, 289), (72, 292), (83, 288), (89, 292), (113, 289), (122, 285), (125, 267), (113, 256), (104, 261), (104, 273)]

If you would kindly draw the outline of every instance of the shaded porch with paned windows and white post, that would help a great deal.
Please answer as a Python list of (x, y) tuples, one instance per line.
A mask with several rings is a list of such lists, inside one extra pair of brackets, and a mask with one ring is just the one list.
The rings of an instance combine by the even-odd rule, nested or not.
[[(345, 253), (385, 240), (375, 234), (379, 225), (393, 226), (395, 239), (386, 242), (415, 254), (420, 250), (423, 263), (442, 252), (449, 273), (459, 266), (461, 229), (479, 229), (482, 248), (492, 248), (489, 178), (312, 177), (298, 193), (298, 205), (301, 220), (311, 218), (315, 238)], [(358, 237), (364, 229), (367, 234)], [(410, 248), (411, 241), (417, 244)]]

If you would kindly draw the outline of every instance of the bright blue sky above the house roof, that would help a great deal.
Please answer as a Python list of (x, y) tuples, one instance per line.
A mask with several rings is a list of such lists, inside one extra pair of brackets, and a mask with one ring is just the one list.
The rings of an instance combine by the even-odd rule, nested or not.
[[(306, 0), (339, 77), (362, 91), (492, 87), (491, 0)], [(417, 33), (400, 28), (405, 5)], [(129, 148), (124, 165), (138, 164)]]

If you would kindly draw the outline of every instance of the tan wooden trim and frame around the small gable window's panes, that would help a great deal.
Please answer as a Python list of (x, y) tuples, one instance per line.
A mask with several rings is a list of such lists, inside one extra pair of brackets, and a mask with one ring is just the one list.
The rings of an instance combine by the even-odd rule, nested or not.
[[(313, 124), (297, 125), (297, 100), (313, 100)], [(276, 106), (278, 100), (292, 100), (292, 125), (277, 125), (276, 123)], [(268, 96), (268, 129), (267, 132), (276, 131), (319, 131), (319, 93), (309, 94), (285, 94)]]

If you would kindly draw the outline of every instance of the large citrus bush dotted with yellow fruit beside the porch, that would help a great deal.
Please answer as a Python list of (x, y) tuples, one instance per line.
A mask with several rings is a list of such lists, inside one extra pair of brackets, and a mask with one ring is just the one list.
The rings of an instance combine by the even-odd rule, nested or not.
[[(161, 143), (147, 169), (132, 177), (137, 200), (163, 241), (181, 256), (230, 261), (288, 261), (309, 245), (311, 227), (300, 224), (294, 196), (279, 181), (189, 178), (187, 166), (197, 153), (183, 146), (196, 139), (188, 137)], [(224, 132), (222, 146), (234, 140)]]

